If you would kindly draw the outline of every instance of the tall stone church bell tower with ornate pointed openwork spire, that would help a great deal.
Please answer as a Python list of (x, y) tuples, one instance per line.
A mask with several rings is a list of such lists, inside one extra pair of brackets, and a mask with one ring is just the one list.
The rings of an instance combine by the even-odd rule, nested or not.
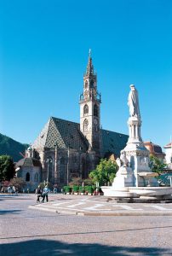
[(89, 141), (89, 150), (97, 154), (100, 154), (100, 103), (97, 76), (89, 49), (89, 61), (83, 75), (83, 94), (80, 96), (80, 131)]

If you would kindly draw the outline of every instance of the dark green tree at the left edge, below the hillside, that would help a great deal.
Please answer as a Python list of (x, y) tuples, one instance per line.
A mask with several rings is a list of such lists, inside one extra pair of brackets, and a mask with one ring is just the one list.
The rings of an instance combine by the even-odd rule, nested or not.
[(13, 159), (9, 155), (0, 155), (0, 181), (10, 180), (14, 175)]

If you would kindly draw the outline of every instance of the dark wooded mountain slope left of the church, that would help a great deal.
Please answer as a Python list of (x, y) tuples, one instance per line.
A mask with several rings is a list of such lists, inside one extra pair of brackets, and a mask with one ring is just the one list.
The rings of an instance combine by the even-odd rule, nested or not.
[(18, 143), (12, 138), (0, 133), (0, 155), (8, 154), (13, 158), (14, 162), (17, 162), (23, 158), (20, 153), (25, 154), (25, 150), (28, 147), (29, 144)]

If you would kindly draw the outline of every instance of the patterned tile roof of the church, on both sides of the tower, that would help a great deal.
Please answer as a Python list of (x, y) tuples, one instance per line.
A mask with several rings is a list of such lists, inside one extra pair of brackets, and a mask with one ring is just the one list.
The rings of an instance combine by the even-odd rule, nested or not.
[[(125, 147), (128, 136), (101, 129), (102, 154), (114, 153), (119, 156)], [(80, 125), (68, 120), (51, 117), (44, 126), (43, 131), (33, 143), (32, 148), (74, 148), (87, 151), (89, 143), (80, 131)]]

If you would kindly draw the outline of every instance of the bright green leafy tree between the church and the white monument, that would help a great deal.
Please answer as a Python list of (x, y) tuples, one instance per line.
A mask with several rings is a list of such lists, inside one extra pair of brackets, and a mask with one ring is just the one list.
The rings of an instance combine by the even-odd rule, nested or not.
[(112, 160), (101, 159), (100, 164), (96, 166), (95, 170), (89, 173), (89, 177), (94, 182), (99, 182), (100, 186), (112, 183), (113, 178), (118, 171), (118, 165)]

